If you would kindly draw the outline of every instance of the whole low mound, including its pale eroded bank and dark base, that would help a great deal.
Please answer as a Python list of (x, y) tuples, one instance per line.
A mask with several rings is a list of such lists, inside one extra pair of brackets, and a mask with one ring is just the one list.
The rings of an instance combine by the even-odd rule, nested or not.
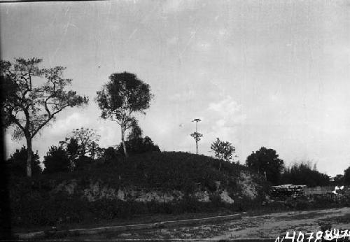
[(264, 182), (239, 164), (185, 152), (150, 152), (71, 173), (12, 178), (14, 225), (127, 218), (142, 213), (239, 210), (265, 197)]

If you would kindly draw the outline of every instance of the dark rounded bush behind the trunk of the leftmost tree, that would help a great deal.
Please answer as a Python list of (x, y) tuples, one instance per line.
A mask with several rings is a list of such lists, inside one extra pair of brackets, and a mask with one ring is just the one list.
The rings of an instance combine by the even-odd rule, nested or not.
[[(22, 146), (20, 150), (16, 150), (11, 156), (10, 159), (8, 159), (8, 169), (10, 170), (10, 173), (12, 173), (15, 176), (26, 176), (26, 170), (27, 170), (27, 148), (25, 146)], [(39, 162), (39, 155), (38, 151), (36, 153), (31, 152), (31, 168), (32, 173), (34, 175), (37, 175), (41, 173), (41, 166)]]

